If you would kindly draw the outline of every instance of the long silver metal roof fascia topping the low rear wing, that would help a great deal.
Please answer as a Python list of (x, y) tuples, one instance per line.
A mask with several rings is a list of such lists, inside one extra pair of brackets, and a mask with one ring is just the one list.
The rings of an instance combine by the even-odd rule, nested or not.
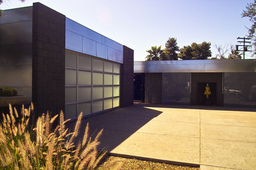
[(135, 61), (134, 73), (256, 72), (256, 59)]

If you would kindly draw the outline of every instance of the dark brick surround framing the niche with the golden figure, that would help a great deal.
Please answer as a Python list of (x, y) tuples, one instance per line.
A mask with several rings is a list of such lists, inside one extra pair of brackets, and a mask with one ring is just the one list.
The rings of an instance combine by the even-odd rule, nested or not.
[(199, 82), (217, 83), (217, 105), (223, 106), (224, 94), (222, 94), (222, 72), (192, 72), (190, 105), (197, 105), (197, 85)]

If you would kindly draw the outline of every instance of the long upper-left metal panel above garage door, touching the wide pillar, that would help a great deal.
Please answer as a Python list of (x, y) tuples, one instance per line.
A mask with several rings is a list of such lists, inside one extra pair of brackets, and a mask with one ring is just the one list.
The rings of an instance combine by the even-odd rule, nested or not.
[(66, 29), (102, 43), (102, 35), (66, 17)]

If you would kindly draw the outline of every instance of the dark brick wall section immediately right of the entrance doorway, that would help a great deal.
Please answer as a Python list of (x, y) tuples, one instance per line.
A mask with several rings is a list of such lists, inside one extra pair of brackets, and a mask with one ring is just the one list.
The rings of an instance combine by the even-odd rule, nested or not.
[(162, 73), (145, 73), (145, 102), (162, 103)]

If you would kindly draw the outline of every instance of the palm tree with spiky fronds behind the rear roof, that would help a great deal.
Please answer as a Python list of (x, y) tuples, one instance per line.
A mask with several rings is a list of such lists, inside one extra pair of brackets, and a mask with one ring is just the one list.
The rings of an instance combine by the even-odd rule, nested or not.
[(164, 50), (161, 49), (161, 45), (159, 47), (152, 46), (151, 49), (147, 50), (146, 52), (150, 53), (146, 56), (146, 61), (168, 60)]

